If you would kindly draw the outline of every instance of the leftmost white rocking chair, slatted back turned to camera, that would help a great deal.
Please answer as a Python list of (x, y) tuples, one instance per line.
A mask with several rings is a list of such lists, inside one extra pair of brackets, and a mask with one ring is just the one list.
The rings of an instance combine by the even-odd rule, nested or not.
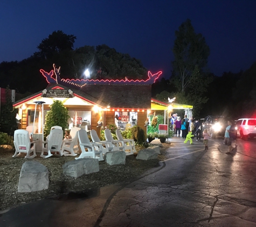
[[(36, 142), (30, 142), (29, 132), (23, 129), (15, 130), (14, 132), (14, 141), (15, 145), (15, 154), (12, 156), (13, 158), (20, 155), (20, 153), (26, 153), (25, 158), (32, 159), (37, 156), (36, 154)], [(31, 147), (31, 144), (33, 145)], [(30, 156), (30, 153), (33, 153)]]

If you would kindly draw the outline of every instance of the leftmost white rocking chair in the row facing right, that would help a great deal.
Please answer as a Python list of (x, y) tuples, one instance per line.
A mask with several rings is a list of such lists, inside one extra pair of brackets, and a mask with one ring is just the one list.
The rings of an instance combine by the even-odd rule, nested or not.
[[(78, 133), (79, 145), (82, 153), (78, 158), (75, 158), (75, 159), (98, 158), (99, 161), (103, 161), (104, 159), (102, 155), (102, 145), (91, 143), (87, 136), (87, 132), (84, 129), (79, 130), (77, 133)], [(86, 148), (88, 151), (85, 150)]]

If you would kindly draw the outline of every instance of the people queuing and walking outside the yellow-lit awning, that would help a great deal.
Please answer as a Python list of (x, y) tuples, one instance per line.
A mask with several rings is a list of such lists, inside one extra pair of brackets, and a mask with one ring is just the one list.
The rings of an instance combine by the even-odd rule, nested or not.
[[(228, 126), (226, 127), (225, 131), (224, 144), (229, 146), (229, 151), (226, 153), (230, 154), (232, 150), (234, 150), (234, 148), (236, 148), (237, 146), (237, 136), (233, 122), (229, 120), (227, 124)], [(210, 138), (210, 134), (207, 129), (204, 129), (204, 131), (202, 131), (202, 123), (200, 122), (200, 119), (195, 119), (195, 117), (193, 116), (189, 119), (187, 115), (185, 115), (184, 118), (181, 119), (181, 117), (177, 116), (177, 113), (174, 113), (170, 118), (170, 128), (174, 131), (174, 135), (185, 139), (184, 143), (190, 141), (190, 144), (192, 144), (193, 137), (196, 137), (196, 140), (198, 141), (201, 140), (202, 136), (205, 150), (208, 150), (208, 140)], [(236, 141), (235, 147), (232, 147), (232, 141)]]

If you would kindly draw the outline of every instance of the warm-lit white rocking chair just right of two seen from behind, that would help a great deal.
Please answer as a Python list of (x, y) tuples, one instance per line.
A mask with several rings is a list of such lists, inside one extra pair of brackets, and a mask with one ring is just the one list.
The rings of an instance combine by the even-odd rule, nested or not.
[(75, 152), (78, 151), (78, 131), (80, 130), (80, 127), (72, 127), (70, 130), (70, 135), (72, 139), (70, 140), (63, 140), (63, 144), (61, 146), (61, 153), (64, 154), (64, 156), (75, 156), (77, 155)]

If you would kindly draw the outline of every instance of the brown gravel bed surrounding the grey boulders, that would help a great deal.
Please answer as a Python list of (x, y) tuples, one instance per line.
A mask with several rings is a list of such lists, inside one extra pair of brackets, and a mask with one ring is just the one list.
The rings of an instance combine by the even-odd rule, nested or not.
[[(63, 175), (63, 165), (75, 157), (50, 157), (47, 159), (25, 159), (25, 153), (18, 158), (12, 158), (13, 151), (8, 146), (0, 146), (0, 210), (17, 205), (40, 200), (59, 194), (82, 192), (115, 183), (127, 182), (142, 175), (151, 168), (157, 167), (159, 161), (165, 160), (166, 149), (170, 144), (163, 144), (161, 154), (153, 160), (136, 160), (135, 155), (126, 156), (125, 165), (110, 166), (105, 161), (99, 162), (100, 171), (82, 175), (77, 179)], [(136, 147), (139, 151), (141, 147)], [(18, 193), (20, 169), (25, 161), (38, 161), (49, 170), (49, 189), (31, 193)]]

